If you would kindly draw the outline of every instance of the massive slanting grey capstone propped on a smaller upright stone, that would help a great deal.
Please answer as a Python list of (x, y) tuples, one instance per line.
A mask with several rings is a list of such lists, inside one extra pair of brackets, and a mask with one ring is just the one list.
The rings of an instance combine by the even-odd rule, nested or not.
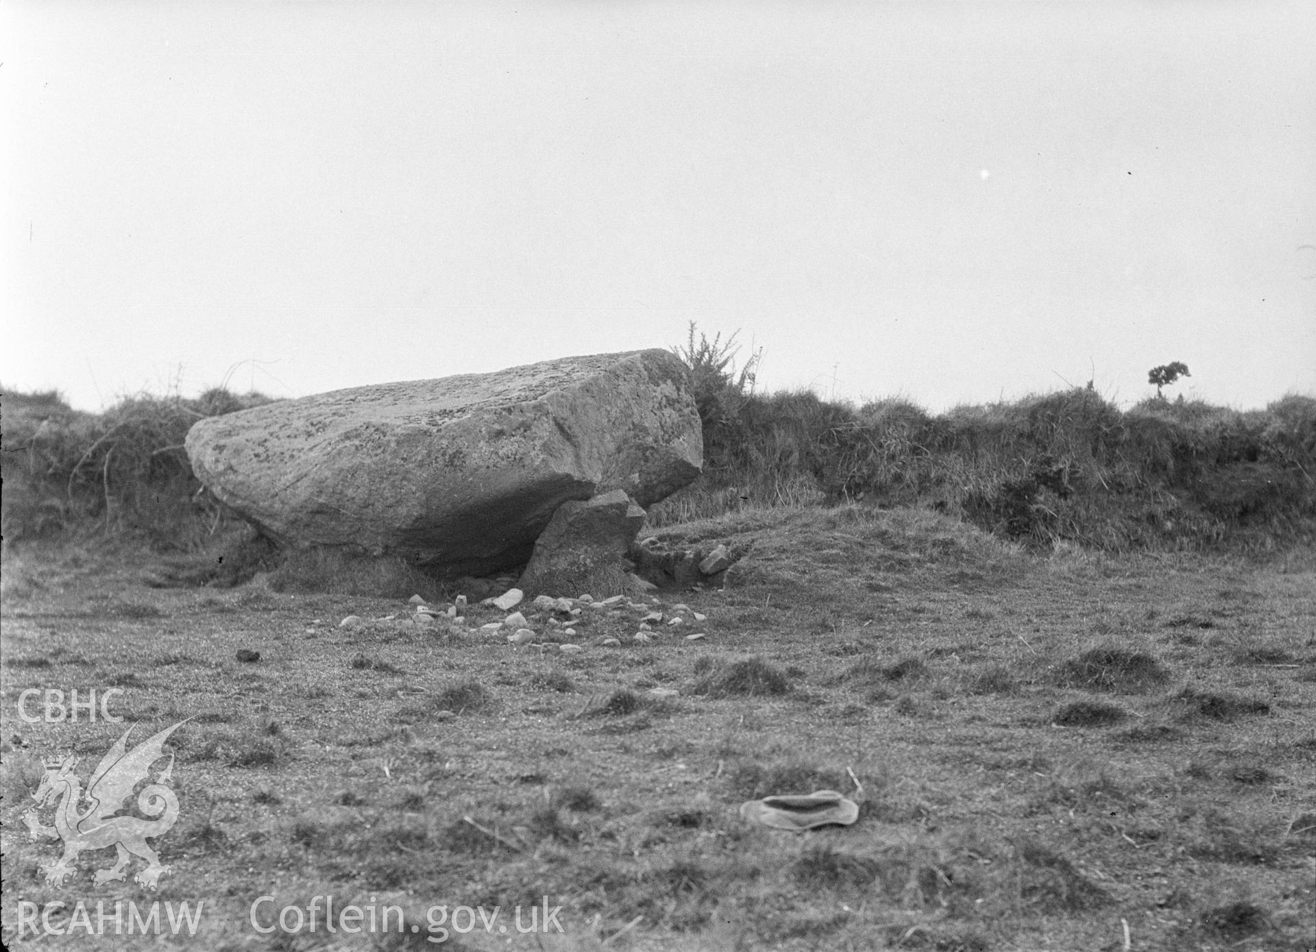
[(201, 420), (187, 453), (286, 546), (482, 574), (525, 564), (567, 500), (688, 485), (703, 432), (680, 359), (636, 350), (271, 403)]

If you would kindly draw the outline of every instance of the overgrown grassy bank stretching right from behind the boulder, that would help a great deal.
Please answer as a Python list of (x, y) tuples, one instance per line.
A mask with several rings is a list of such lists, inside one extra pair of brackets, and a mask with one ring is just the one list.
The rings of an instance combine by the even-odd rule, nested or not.
[(932, 415), (741, 394), (704, 421), (705, 469), (657, 524), (742, 506), (917, 506), (1029, 545), (1265, 550), (1316, 539), (1316, 400), (1259, 411), (1074, 388)]

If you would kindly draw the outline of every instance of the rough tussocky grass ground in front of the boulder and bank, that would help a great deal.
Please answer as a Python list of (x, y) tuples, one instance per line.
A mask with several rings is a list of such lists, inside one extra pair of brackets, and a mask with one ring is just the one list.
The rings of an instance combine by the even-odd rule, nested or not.
[[(857, 507), (662, 535), (749, 554), (720, 591), (559, 624), (522, 607), (537, 637), (521, 647), (479, 631), (503, 618), (492, 608), (417, 624), (400, 600), (280, 594), (259, 577), (151, 589), (133, 549), (8, 550), (7, 944), (20, 899), (82, 899), (93, 922), (96, 901), (204, 901), (196, 936), (166, 941), (232, 949), (1316, 944), (1309, 553), (1037, 554)], [(637, 643), (655, 608), (659, 633)], [(365, 620), (340, 627), (347, 615)], [(28, 687), (112, 686), (121, 726), (18, 716)], [(42, 758), (71, 749), (87, 781), (129, 723), (136, 743), (184, 718), (159, 891), (92, 885), (109, 851), (46, 886), (37, 868), (58, 844), (20, 819)], [(796, 835), (737, 814), (822, 787), (859, 802), (854, 826)], [(418, 931), (350, 943), (321, 912), (315, 934), (262, 935), (262, 924), (333, 895), (400, 906)], [(525, 924), (542, 897), (565, 931), (517, 935), (513, 907)], [(432, 906), (501, 918), (428, 944)]]

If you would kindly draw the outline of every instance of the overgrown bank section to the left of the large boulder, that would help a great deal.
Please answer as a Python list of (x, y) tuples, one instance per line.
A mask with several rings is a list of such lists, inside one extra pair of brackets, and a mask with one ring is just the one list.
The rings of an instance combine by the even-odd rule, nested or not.
[(187, 431), (268, 402), (213, 388), (196, 399), (128, 396), (84, 413), (57, 392), (0, 391), (5, 540), (96, 527), (145, 535), (162, 549), (195, 546), (229, 516), (192, 474)]

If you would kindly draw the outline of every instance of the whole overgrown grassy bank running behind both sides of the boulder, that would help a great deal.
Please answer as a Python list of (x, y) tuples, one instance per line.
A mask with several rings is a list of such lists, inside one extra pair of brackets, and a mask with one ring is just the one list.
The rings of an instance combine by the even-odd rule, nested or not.
[[(903, 399), (855, 407), (749, 392), (717, 338), (692, 369), (705, 469), (650, 511), (671, 525), (738, 508), (862, 502), (930, 508), (1001, 539), (1105, 552), (1265, 552), (1316, 541), (1316, 399), (1265, 410), (1153, 398), (1120, 410), (1074, 388), (932, 415)], [(204, 416), (267, 402), (222, 388), (133, 396), (104, 413), (55, 394), (3, 395), (7, 541), (132, 536), (163, 552), (240, 528), (183, 452)]]

